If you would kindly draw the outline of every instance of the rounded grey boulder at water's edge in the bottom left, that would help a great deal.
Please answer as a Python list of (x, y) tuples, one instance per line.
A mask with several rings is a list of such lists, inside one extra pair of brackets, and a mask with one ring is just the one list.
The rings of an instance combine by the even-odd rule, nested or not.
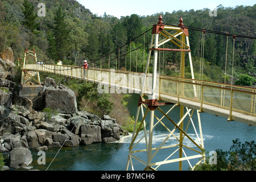
[(27, 148), (14, 148), (10, 152), (10, 168), (27, 167), (33, 162), (31, 151)]

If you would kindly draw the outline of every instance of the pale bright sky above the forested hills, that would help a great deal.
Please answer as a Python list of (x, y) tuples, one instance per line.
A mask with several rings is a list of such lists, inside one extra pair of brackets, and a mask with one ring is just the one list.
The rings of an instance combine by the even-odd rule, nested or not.
[[(178, 10), (202, 10), (208, 8), (214, 10), (218, 5), (224, 7), (235, 6), (253, 6), (256, 4), (255, 0), (77, 0), (86, 9), (89, 9), (93, 14), (102, 16), (105, 12), (107, 15), (113, 15), (117, 18), (121, 16), (130, 16), (131, 14), (138, 14), (140, 16), (153, 15), (155, 13), (172, 13)], [(180, 3), (179, 3), (180, 2)]]

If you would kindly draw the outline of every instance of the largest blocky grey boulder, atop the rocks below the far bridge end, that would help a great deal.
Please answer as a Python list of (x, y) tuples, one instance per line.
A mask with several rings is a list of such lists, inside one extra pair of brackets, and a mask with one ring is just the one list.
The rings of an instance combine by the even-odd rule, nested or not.
[(63, 114), (75, 114), (78, 111), (75, 93), (65, 86), (45, 89), (45, 107)]

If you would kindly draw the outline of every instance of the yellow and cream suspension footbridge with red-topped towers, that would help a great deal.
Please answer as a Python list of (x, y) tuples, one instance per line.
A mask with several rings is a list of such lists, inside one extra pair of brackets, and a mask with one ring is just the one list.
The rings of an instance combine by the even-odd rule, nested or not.
[[(96, 67), (95, 61), (93, 61), (90, 63), (90, 69), (86, 71), (83, 67), (71, 65), (39, 64), (35, 51), (26, 50), (21, 85), (25, 84), (30, 78), (33, 78), (40, 85), (39, 72), (47, 72), (98, 84), (99, 92), (138, 93), (140, 97), (129, 153), (127, 154), (126, 169), (135, 169), (134, 160), (143, 164), (145, 166), (143, 169), (145, 170), (157, 170), (163, 164), (174, 162), (178, 162), (179, 170), (182, 170), (183, 160), (189, 162), (190, 159), (197, 158), (200, 159), (198, 163), (201, 163), (205, 159), (205, 154), (203, 152), (204, 145), (200, 113), (206, 112), (227, 118), (227, 121), (238, 121), (247, 125), (256, 126), (256, 89), (246, 86), (204, 81), (203, 79), (196, 80), (194, 78), (193, 61), (191, 59), (189, 44), (189, 27), (184, 26), (182, 22), (183, 20), (181, 18), (178, 26), (163, 24), (162, 16), (159, 16), (159, 22), (151, 28), (152, 35), (151, 41), (149, 42), (146, 66), (143, 68), (145, 70), (144, 73), (137, 72), (137, 69), (136, 72), (132, 72), (131, 69), (130, 71), (119, 69), (119, 58), (114, 59), (115, 69), (111, 69), (110, 55), (107, 55), (109, 56), (109, 60), (104, 63), (107, 64), (107, 68), (102, 68), (103, 63), (101, 59), (100, 67)], [(203, 43), (204, 35), (207, 31), (200, 31), (203, 32)], [(223, 35), (227, 34), (223, 33)], [(161, 40), (159, 36), (162, 36)], [(235, 41), (238, 35), (231, 36), (233, 36), (233, 40)], [(166, 48), (164, 46), (166, 43), (171, 43), (177, 48)], [(203, 55), (202, 50), (201, 56)], [(160, 51), (180, 52), (179, 77), (159, 74)], [(191, 78), (185, 78), (185, 56), (189, 56)], [(153, 71), (149, 73), (151, 57), (153, 57)], [(34, 78), (35, 76), (37, 79)], [(163, 111), (161, 109), (163, 106), (169, 107), (169, 110), (167, 112)], [(169, 114), (174, 107), (179, 107), (179, 121), (174, 121)], [(155, 115), (157, 111), (162, 114), (161, 118)], [(192, 119), (194, 113), (197, 113), (197, 121), (193, 121), (194, 119)], [(149, 120), (147, 127), (146, 115), (149, 115), (147, 118)], [(139, 117), (142, 118), (141, 122), (138, 121)], [(171, 127), (163, 122), (163, 118), (171, 123)], [(185, 118), (188, 118), (189, 121), (185, 122)], [(197, 123), (197, 128), (195, 128), (194, 123)], [(137, 125), (138, 129), (136, 130)], [(169, 134), (159, 146), (154, 146), (154, 129), (157, 125), (165, 127)], [(197, 140), (187, 133), (187, 127), (189, 125), (193, 125)], [(142, 128), (143, 130), (141, 130)], [(174, 133), (174, 131), (178, 131), (179, 134)], [(139, 133), (143, 133), (141, 138), (139, 137), (141, 135), (138, 135)], [(169, 146), (166, 142), (171, 136), (176, 138), (178, 143)], [(183, 143), (185, 138), (189, 139), (194, 144), (194, 147), (186, 146)], [(138, 144), (142, 140), (145, 140), (145, 148), (138, 147)], [(161, 150), (170, 150), (170, 155), (160, 161), (155, 161), (155, 156)], [(194, 154), (187, 156), (185, 150), (194, 152)]]

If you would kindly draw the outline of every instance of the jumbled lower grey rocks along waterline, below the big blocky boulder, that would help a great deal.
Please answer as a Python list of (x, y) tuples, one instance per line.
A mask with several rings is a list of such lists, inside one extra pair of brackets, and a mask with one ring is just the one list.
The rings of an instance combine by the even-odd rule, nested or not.
[[(29, 110), (23, 106), (13, 110), (0, 106), (1, 146), (0, 152), (10, 152), (10, 168), (26, 167), (32, 162), (30, 148), (47, 150), (88, 145), (92, 143), (111, 143), (127, 135), (117, 124), (116, 119), (78, 111), (77, 114), (57, 114), (50, 119), (47, 113)], [(4, 118), (4, 119), (3, 119)]]

